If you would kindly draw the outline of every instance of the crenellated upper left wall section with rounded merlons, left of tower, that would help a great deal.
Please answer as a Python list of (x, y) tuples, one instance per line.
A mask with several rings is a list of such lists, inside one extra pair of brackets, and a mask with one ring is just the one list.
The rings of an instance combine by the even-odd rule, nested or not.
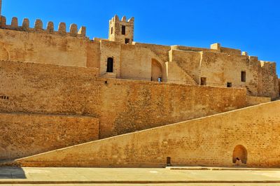
[(63, 22), (59, 23), (58, 31), (54, 31), (52, 22), (48, 22), (44, 30), (41, 20), (36, 20), (34, 28), (30, 28), (29, 20), (25, 19), (19, 27), (16, 17), (6, 25), (6, 18), (2, 16), (0, 36), (1, 59), (66, 66), (87, 63), (85, 27), (77, 32), (76, 24), (71, 24), (70, 32), (66, 33)]

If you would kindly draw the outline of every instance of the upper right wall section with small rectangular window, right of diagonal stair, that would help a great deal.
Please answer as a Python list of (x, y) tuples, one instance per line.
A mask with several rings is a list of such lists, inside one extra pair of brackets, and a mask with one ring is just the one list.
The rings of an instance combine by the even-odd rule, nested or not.
[[(258, 61), (251, 62), (244, 55), (203, 52), (201, 66), (207, 85), (227, 87), (227, 83), (232, 83), (232, 87), (246, 87), (249, 95), (258, 96)], [(241, 71), (246, 72), (246, 82), (241, 82)]]

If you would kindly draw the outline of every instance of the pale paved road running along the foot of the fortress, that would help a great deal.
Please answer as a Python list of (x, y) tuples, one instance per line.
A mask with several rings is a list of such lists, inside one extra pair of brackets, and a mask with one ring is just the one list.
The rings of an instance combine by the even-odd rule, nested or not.
[(139, 183), (157, 186), (187, 183), (188, 185), (280, 185), (280, 169), (0, 168), (0, 186), (4, 184), (9, 186), (102, 184), (104, 186), (139, 185)]

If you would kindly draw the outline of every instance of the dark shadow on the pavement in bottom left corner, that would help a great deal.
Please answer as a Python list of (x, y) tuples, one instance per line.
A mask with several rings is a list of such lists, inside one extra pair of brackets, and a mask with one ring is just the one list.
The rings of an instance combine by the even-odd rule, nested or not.
[(20, 167), (0, 167), (0, 179), (26, 179), (25, 171)]

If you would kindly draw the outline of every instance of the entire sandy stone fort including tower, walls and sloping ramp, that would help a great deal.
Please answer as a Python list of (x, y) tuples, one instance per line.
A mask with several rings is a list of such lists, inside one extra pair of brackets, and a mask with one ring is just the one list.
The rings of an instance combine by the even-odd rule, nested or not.
[(0, 166), (280, 166), (274, 62), (0, 16)]

